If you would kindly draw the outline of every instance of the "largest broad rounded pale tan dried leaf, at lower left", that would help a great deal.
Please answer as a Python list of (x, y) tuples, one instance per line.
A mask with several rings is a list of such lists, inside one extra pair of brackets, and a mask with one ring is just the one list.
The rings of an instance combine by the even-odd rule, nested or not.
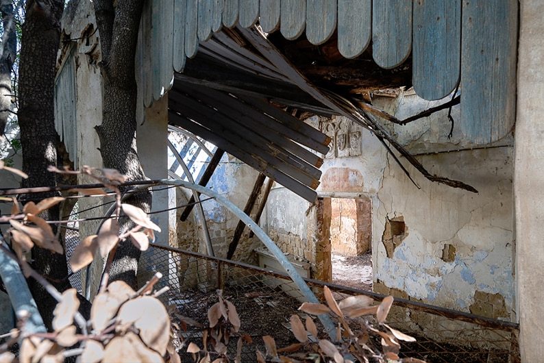
[(124, 303), (117, 320), (121, 324), (134, 323), (142, 341), (160, 355), (166, 353), (170, 337), (170, 318), (160, 300), (144, 296)]

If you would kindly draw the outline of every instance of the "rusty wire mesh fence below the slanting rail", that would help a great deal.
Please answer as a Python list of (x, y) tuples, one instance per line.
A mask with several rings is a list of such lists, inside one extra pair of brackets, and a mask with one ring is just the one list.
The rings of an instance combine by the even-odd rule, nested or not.
[[(284, 273), (157, 246), (142, 255), (138, 271), (139, 284), (145, 284), (157, 271), (162, 273), (161, 284), (170, 286), (161, 297), (163, 302), (175, 305), (179, 317), (188, 316), (204, 326), (208, 325), (208, 309), (218, 301), (215, 291), (223, 290), (223, 297), (236, 306), (240, 316), (240, 333), (251, 336), (251, 343), (243, 346), (243, 362), (256, 361), (257, 349), (265, 351), (262, 336), (273, 336), (277, 347), (296, 342), (290, 331), (289, 318), (297, 313), (304, 317), (297, 308), (306, 299)], [(374, 292), (305, 280), (322, 301), (325, 285), (333, 291), (336, 300), (354, 295), (367, 295), (376, 301), (384, 297)], [(426, 362), (519, 362), (519, 330), (514, 323), (395, 299), (388, 314), (388, 324), (417, 338), (416, 342), (401, 344), (401, 356)], [(186, 347), (189, 342), (202, 347), (202, 334), (202, 329), (190, 326), (182, 333), (180, 355), (183, 362), (193, 361), (191, 355), (185, 353)], [(233, 357), (236, 342), (237, 338), (233, 336), (227, 345)]]

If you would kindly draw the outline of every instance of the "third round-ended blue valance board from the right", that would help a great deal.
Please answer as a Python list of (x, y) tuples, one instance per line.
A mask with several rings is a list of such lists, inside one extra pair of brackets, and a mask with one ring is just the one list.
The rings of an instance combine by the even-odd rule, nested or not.
[(373, 58), (382, 68), (393, 68), (412, 49), (412, 0), (378, 0), (372, 5)]

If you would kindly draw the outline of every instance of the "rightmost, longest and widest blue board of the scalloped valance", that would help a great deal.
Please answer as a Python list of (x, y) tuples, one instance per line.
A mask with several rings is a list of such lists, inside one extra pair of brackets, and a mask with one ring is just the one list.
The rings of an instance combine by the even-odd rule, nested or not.
[(499, 140), (515, 122), (517, 6), (462, 2), (460, 127), (473, 142)]

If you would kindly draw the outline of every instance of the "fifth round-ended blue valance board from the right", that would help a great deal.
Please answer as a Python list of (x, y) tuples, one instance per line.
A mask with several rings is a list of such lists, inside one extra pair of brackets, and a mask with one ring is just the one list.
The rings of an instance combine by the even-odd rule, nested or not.
[(336, 29), (336, 0), (308, 0), (306, 38), (314, 45), (329, 40)]

